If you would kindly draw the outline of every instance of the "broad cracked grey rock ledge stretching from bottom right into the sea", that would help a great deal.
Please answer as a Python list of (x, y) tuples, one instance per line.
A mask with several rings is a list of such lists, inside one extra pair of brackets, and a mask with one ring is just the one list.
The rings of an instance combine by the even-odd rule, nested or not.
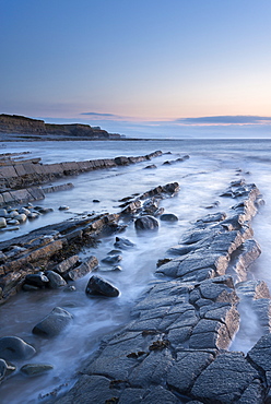
[(156, 270), (166, 280), (154, 282), (132, 321), (104, 340), (57, 403), (269, 402), (270, 334), (246, 356), (227, 350), (239, 326), (238, 295), (270, 301), (264, 283), (247, 281), (260, 253), (250, 227), (259, 191), (240, 185), (231, 193), (238, 202), (229, 216), (203, 217), (168, 251)]

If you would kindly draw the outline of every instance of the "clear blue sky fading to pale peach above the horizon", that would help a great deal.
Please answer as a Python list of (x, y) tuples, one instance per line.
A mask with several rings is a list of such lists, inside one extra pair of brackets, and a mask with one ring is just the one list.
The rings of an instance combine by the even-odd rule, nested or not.
[(270, 0), (0, 0), (0, 114), (271, 138)]

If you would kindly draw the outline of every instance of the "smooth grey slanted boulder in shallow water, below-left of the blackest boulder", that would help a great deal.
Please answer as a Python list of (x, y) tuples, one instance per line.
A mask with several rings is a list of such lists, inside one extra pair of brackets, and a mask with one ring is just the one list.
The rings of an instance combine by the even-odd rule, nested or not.
[(48, 316), (34, 326), (32, 332), (47, 338), (58, 335), (71, 322), (72, 318), (72, 314), (61, 307), (55, 307)]

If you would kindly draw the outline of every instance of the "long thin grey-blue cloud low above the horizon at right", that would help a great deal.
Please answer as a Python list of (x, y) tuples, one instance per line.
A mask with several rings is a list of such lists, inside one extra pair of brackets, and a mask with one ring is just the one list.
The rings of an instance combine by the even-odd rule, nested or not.
[(271, 117), (250, 115), (225, 115), (214, 117), (179, 118), (174, 122), (181, 124), (271, 124)]

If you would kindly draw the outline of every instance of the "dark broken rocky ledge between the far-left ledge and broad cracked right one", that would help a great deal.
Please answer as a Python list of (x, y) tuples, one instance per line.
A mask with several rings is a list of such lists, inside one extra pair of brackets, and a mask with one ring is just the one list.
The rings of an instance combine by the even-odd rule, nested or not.
[[(163, 212), (158, 210), (160, 201), (174, 195), (178, 189), (177, 182), (160, 186), (129, 199), (126, 207), (118, 214), (89, 213), (0, 242), (0, 305), (22, 288), (37, 290), (43, 287), (55, 288), (54, 284), (56, 288), (66, 285), (57, 275), (52, 278), (54, 274), (61, 275), (64, 278), (62, 281), (75, 281), (86, 275), (98, 263), (92, 257), (81, 262), (76, 253), (83, 246), (95, 245), (97, 238), (105, 234), (122, 231), (126, 225), (119, 224), (119, 221), (128, 212), (129, 215), (138, 216), (138, 219), (152, 217), (156, 223), (156, 218), (150, 215), (151, 211), (153, 214)], [(152, 223), (144, 227), (152, 228)], [(121, 239), (115, 247), (129, 248), (129, 242)], [(116, 259), (114, 263), (117, 261)], [(47, 270), (46, 274), (43, 269)], [(48, 271), (54, 274), (48, 276)]]

